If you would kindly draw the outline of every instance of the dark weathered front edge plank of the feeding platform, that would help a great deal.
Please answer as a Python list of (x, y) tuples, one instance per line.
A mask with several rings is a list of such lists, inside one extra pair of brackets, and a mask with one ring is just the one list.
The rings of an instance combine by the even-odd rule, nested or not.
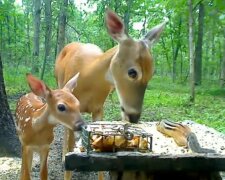
[(65, 169), (76, 171), (225, 171), (219, 154), (163, 155), (138, 152), (69, 153)]

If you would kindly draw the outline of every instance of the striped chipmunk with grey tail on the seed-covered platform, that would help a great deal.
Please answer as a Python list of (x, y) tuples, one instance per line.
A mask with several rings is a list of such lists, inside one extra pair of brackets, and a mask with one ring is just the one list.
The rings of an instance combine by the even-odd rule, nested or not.
[(195, 153), (215, 153), (213, 149), (202, 148), (197, 136), (187, 125), (162, 120), (157, 123), (156, 128), (166, 136), (172, 137), (178, 146), (185, 146)]

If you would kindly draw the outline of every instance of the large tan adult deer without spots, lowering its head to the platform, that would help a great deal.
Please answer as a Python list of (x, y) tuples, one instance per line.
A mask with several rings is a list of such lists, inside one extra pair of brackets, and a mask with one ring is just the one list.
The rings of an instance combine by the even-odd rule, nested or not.
[[(55, 64), (59, 87), (80, 72), (73, 94), (80, 101), (80, 111), (92, 114), (94, 121), (103, 117), (103, 104), (114, 86), (119, 97), (124, 120), (137, 123), (145, 89), (153, 75), (153, 60), (149, 48), (158, 40), (165, 23), (152, 28), (141, 40), (125, 33), (122, 20), (112, 11), (106, 12), (108, 34), (119, 45), (106, 52), (94, 45), (71, 43), (60, 52)], [(64, 155), (74, 146), (74, 134), (65, 131)]]

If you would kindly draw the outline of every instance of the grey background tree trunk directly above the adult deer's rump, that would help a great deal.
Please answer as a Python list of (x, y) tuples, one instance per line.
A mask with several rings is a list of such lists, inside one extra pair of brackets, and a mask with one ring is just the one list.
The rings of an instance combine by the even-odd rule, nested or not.
[(57, 54), (62, 50), (65, 45), (65, 30), (66, 30), (66, 9), (68, 6), (68, 0), (61, 0), (60, 15), (59, 15), (59, 25), (58, 25), (58, 47)]

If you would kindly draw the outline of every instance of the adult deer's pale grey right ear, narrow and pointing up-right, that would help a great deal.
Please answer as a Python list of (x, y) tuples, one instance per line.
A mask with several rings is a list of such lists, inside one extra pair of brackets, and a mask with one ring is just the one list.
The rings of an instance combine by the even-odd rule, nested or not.
[(159, 37), (165, 27), (165, 24), (167, 21), (164, 21), (163, 23), (153, 27), (143, 38), (143, 40), (146, 42), (146, 44), (151, 47), (155, 42), (159, 40)]

